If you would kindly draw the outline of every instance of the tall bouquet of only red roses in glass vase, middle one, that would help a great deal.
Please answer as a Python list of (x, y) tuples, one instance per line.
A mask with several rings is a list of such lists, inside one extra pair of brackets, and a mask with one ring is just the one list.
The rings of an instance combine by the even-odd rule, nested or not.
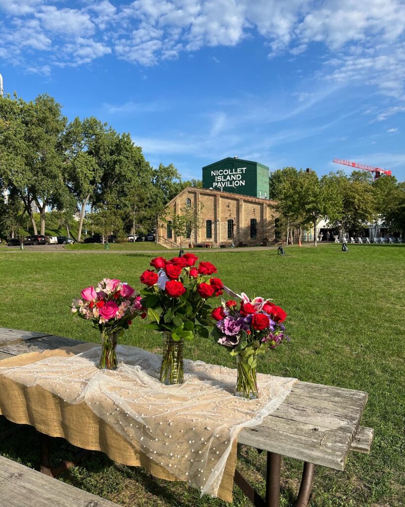
[(167, 260), (152, 259), (140, 280), (141, 304), (147, 309), (151, 323), (147, 328), (164, 334), (164, 354), (160, 381), (165, 384), (183, 382), (183, 342), (194, 334), (208, 338), (207, 325), (214, 325), (210, 298), (222, 294), (223, 284), (215, 278), (217, 268), (210, 262), (199, 262), (194, 253)]

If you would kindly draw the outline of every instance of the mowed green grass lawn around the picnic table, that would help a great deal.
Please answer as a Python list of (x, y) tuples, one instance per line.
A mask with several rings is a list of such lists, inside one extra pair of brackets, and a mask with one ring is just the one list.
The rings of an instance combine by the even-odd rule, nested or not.
[[(345, 472), (318, 468), (311, 507), (399, 507), (405, 492), (403, 453), (405, 246), (339, 245), (275, 250), (198, 252), (218, 267), (235, 292), (273, 298), (289, 314), (291, 343), (269, 353), (259, 371), (369, 393), (362, 424), (375, 429), (370, 456), (351, 453)], [(170, 257), (171, 252), (165, 252)], [(69, 304), (80, 289), (115, 277), (140, 289), (139, 275), (151, 255), (144, 253), (0, 252), (0, 327), (52, 333), (97, 341), (87, 322), (73, 318)], [(160, 337), (135, 321), (124, 343), (159, 351)], [(185, 356), (234, 365), (226, 350), (211, 339), (187, 344)], [(0, 421), (2, 427), (8, 422)], [(38, 442), (24, 429), (0, 442), (0, 452), (38, 466)], [(74, 449), (62, 440), (55, 460)], [(264, 453), (263, 453), (264, 454)], [(265, 456), (242, 448), (239, 467), (264, 491)], [(301, 463), (285, 459), (283, 507), (292, 507)], [(158, 481), (140, 468), (111, 462), (102, 454), (68, 470), (62, 480), (117, 503), (149, 506), (211, 507), (224, 502), (199, 498), (182, 483)], [(234, 488), (234, 506), (250, 505)]]

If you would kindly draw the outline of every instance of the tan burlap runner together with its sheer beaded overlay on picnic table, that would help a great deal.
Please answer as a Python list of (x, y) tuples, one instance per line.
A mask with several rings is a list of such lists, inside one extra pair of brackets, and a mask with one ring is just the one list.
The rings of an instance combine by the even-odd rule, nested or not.
[(158, 381), (161, 356), (118, 346), (116, 371), (100, 371), (100, 346), (23, 354), (0, 363), (0, 413), (232, 500), (236, 437), (282, 403), (296, 379), (258, 375), (261, 396), (233, 396), (236, 370), (185, 360), (184, 383)]

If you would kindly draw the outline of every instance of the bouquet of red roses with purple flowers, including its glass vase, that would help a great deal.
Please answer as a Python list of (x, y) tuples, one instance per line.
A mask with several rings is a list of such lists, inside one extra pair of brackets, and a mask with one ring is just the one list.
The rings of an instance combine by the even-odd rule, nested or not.
[(236, 356), (236, 395), (248, 399), (258, 397), (256, 382), (257, 356), (274, 349), (288, 337), (285, 335), (287, 313), (269, 300), (257, 297), (252, 301), (242, 293), (236, 301), (223, 301), (211, 316), (217, 320), (213, 336)]

